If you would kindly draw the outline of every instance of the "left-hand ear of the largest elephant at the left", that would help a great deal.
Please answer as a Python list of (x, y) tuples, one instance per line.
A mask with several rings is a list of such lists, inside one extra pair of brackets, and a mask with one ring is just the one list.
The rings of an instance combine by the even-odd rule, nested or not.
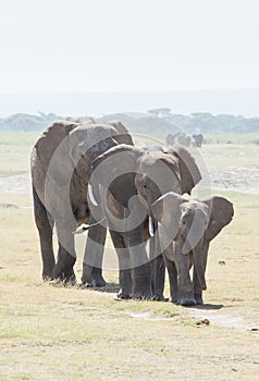
[(54, 122), (35, 145), (44, 172), (60, 186), (67, 184), (71, 180), (73, 164), (70, 158), (69, 135), (77, 125), (69, 121)]

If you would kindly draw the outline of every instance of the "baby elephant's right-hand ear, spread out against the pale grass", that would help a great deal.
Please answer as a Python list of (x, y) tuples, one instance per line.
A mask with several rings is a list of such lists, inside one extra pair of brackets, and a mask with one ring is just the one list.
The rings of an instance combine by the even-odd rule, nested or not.
[(210, 210), (210, 220), (206, 230), (206, 238), (207, 241), (211, 241), (231, 222), (234, 216), (234, 208), (231, 201), (219, 196), (212, 197), (203, 202), (208, 205)]

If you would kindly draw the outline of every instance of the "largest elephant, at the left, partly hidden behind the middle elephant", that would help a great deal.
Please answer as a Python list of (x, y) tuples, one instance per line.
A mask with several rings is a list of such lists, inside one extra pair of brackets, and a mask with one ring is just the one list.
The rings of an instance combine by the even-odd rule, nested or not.
[[(102, 210), (90, 204), (87, 171), (107, 149), (121, 143), (132, 145), (132, 137), (120, 122), (95, 124), (90, 118), (52, 123), (39, 137), (32, 153), (32, 180), (35, 221), (42, 257), (42, 278), (74, 281), (76, 260), (72, 232), (82, 223), (96, 222)], [(55, 261), (52, 244), (57, 226), (59, 249)], [(86, 244), (83, 283), (106, 284), (101, 274), (106, 228), (89, 231)]]

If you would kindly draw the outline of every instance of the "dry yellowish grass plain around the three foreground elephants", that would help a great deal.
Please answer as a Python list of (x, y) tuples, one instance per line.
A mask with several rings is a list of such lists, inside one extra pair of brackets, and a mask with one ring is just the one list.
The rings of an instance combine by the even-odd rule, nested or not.
[(205, 305), (186, 308), (118, 300), (109, 241), (106, 290), (41, 281), (28, 176), (36, 138), (0, 134), (0, 380), (258, 380), (259, 146), (247, 138), (199, 150), (212, 193), (231, 199), (235, 216), (211, 244)]

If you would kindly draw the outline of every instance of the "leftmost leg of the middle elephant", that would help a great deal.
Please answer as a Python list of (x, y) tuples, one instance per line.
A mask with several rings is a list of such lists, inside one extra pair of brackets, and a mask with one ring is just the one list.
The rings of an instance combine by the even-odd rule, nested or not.
[(132, 295), (132, 274), (131, 274), (131, 256), (128, 248), (125, 245), (124, 237), (112, 230), (110, 230), (113, 246), (118, 254), (119, 260), (119, 279), (120, 291), (118, 297), (128, 299)]

